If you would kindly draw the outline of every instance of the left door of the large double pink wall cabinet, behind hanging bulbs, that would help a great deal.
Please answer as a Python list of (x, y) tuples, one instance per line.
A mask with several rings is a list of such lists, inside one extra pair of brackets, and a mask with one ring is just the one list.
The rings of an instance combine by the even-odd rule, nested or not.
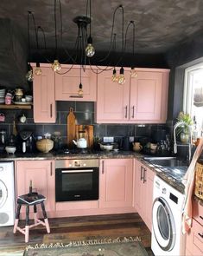
[(125, 83), (111, 82), (112, 70), (98, 74), (97, 122), (129, 120), (130, 75), (125, 72)]

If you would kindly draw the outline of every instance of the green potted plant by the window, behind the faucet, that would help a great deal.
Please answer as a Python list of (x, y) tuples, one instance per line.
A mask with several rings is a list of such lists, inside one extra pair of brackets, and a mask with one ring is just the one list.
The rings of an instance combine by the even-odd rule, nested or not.
[(187, 143), (189, 141), (189, 135), (192, 135), (193, 119), (189, 114), (180, 112), (177, 120), (176, 125), (179, 126), (179, 128), (177, 128), (177, 135), (180, 135), (181, 142)]

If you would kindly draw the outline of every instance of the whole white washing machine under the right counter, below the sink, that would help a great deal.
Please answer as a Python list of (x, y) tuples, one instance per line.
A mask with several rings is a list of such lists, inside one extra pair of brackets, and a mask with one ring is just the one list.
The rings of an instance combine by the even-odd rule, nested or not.
[(185, 255), (186, 236), (181, 232), (185, 195), (155, 176), (151, 249), (155, 256)]

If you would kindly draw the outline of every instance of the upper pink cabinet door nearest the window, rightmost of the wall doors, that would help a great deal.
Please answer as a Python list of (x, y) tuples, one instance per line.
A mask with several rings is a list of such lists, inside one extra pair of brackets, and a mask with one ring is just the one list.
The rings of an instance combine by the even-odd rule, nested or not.
[(162, 73), (138, 71), (130, 79), (130, 120), (160, 120)]

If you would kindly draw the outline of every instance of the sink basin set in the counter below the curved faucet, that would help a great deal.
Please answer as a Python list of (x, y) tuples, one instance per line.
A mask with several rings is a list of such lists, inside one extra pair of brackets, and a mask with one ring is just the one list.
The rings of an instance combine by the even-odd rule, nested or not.
[(144, 160), (160, 167), (182, 167), (187, 166), (186, 161), (181, 161), (176, 157), (144, 157)]

